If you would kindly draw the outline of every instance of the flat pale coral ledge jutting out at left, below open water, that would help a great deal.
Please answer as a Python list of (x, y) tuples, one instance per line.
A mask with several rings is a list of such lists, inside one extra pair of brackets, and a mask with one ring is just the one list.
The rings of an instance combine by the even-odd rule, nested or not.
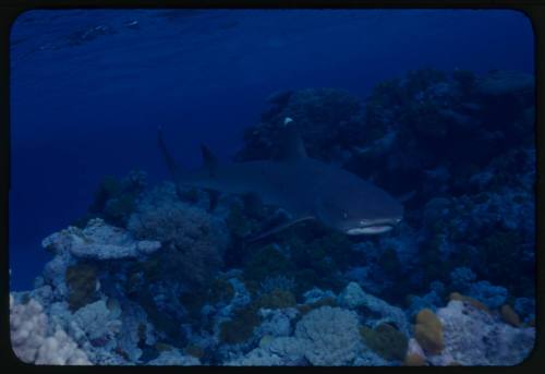
[(56, 232), (41, 242), (55, 253), (69, 252), (77, 258), (119, 260), (137, 257), (157, 251), (161, 243), (149, 240), (135, 240), (128, 231), (107, 225), (102, 219), (88, 221), (82, 230), (70, 226)]

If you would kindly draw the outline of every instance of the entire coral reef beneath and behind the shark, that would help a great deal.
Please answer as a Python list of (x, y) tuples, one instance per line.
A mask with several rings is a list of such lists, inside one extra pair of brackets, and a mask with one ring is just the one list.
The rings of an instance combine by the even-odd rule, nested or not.
[(140, 171), (107, 177), (88, 213), (44, 240), (53, 258), (35, 289), (11, 294), (20, 358), (505, 365), (528, 355), (532, 76), (423, 69), (363, 102), (334, 88), (280, 92), (269, 102), (235, 161), (272, 157), (293, 118), (311, 157), (407, 195), (404, 220), (376, 237), (302, 222), (247, 242), (286, 213), (247, 196), (149, 188)]

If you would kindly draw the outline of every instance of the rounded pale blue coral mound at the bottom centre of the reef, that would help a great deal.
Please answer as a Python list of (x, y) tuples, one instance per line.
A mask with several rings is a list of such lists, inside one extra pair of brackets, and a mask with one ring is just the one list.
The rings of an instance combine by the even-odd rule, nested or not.
[(307, 340), (308, 349), (304, 355), (313, 365), (344, 365), (361, 348), (358, 326), (354, 312), (322, 306), (298, 323), (295, 337)]

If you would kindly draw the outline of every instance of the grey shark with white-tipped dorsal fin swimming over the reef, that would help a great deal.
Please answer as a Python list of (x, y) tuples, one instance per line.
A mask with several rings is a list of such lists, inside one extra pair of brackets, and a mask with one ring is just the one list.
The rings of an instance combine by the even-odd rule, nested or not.
[(202, 145), (203, 167), (186, 170), (167, 148), (161, 126), (158, 146), (178, 188), (256, 196), (262, 203), (289, 213), (287, 222), (252, 240), (307, 220), (348, 236), (384, 233), (402, 220), (403, 206), (392, 195), (348, 170), (308, 157), (292, 122), (291, 118), (284, 119), (280, 150), (269, 160), (221, 164)]

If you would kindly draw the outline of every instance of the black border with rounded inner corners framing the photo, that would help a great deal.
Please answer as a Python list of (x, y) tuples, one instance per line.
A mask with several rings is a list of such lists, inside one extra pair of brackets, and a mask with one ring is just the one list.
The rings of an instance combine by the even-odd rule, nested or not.
[[(34, 371), (45, 373), (66, 373), (74, 372), (92, 372), (97, 369), (105, 371), (122, 371), (132, 372), (138, 371), (228, 371), (228, 372), (272, 372), (276, 370), (282, 371), (301, 371), (302, 367), (228, 367), (228, 366), (198, 366), (198, 367), (180, 367), (180, 366), (53, 366), (53, 365), (33, 365), (25, 364), (20, 361), (11, 350), (10, 331), (9, 331), (9, 191), (10, 191), (10, 31), (19, 14), (33, 9), (161, 9), (161, 8), (181, 8), (181, 9), (214, 9), (214, 8), (232, 8), (232, 9), (504, 9), (520, 11), (526, 15), (532, 24), (534, 32), (534, 67), (535, 67), (535, 142), (536, 142), (536, 184), (535, 184), (535, 230), (536, 230), (536, 253), (535, 253), (535, 274), (536, 274), (536, 340), (535, 347), (531, 354), (520, 364), (514, 366), (420, 366), (420, 367), (339, 367), (343, 371), (365, 371), (376, 372), (386, 370), (397, 370), (404, 372), (416, 371), (434, 371), (440, 370), (450, 373), (461, 372), (505, 372), (512, 373), (516, 371), (538, 371), (538, 367), (545, 367), (542, 363), (545, 361), (545, 348), (543, 345), (543, 316), (544, 316), (544, 299), (545, 299), (545, 275), (541, 273), (545, 269), (545, 255), (540, 250), (545, 243), (545, 225), (541, 219), (541, 212), (544, 208), (544, 192), (545, 192), (545, 2), (540, 0), (184, 0), (184, 1), (150, 1), (150, 0), (133, 0), (133, 1), (105, 1), (105, 0), (3, 0), (0, 3), (0, 171), (3, 183), (0, 184), (0, 248), (3, 251), (0, 253), (0, 263), (4, 269), (0, 272), (0, 363), (2, 367), (9, 367), (13, 371)], [(540, 64), (541, 62), (541, 64)], [(540, 107), (540, 102), (543, 102)], [(541, 193), (540, 193), (541, 192)], [(7, 292), (8, 290), (8, 292)], [(315, 371), (329, 373), (334, 369), (330, 367), (304, 367), (305, 371)]]

